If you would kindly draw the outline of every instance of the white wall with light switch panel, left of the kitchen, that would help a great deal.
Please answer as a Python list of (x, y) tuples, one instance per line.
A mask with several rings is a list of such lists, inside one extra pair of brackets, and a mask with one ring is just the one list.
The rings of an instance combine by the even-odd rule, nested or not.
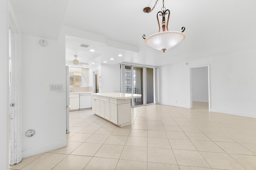
[[(32, 137), (22, 136), (22, 157), (66, 146), (65, 36), (58, 41), (22, 35), (21, 112), (22, 134), (34, 129)], [(63, 84), (63, 91), (50, 91), (50, 84)]]

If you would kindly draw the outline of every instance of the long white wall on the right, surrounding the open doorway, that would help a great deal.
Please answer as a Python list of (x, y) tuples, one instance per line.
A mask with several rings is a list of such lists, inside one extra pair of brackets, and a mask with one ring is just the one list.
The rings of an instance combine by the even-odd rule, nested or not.
[(256, 118), (255, 54), (256, 49), (159, 67), (158, 103), (189, 108), (189, 67), (210, 64), (211, 111)]

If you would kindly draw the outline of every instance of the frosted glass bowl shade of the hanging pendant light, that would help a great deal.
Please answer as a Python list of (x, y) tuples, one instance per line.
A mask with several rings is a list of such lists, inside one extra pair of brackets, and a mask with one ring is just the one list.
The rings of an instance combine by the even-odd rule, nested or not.
[(186, 39), (186, 34), (178, 31), (158, 32), (144, 40), (145, 45), (154, 49), (163, 50), (170, 49)]

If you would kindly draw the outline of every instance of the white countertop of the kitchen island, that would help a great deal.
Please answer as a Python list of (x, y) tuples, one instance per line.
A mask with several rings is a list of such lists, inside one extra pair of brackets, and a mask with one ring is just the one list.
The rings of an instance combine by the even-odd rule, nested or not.
[(139, 94), (131, 94), (131, 93), (92, 93), (95, 96), (103, 96), (103, 97), (111, 97), (114, 99), (133, 99), (140, 98)]

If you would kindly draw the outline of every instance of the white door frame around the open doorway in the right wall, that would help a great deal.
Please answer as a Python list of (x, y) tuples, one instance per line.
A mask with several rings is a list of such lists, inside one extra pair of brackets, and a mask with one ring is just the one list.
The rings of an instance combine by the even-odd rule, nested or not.
[(194, 68), (201, 68), (207, 67), (208, 68), (208, 101), (209, 101), (209, 111), (211, 111), (211, 93), (210, 93), (210, 64), (207, 65), (198, 65), (189, 67), (189, 98), (190, 98), (190, 109), (193, 109), (193, 96), (192, 96), (192, 69)]

